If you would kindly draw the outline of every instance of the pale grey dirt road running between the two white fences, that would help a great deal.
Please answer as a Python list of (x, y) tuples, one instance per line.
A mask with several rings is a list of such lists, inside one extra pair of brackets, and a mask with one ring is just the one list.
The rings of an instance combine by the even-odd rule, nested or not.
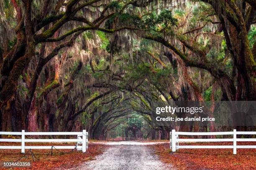
[[(90, 149), (90, 148), (89, 148)], [(79, 170), (173, 170), (153, 154), (153, 146), (136, 142), (122, 142), (108, 148), (96, 160), (89, 161), (75, 169)]]

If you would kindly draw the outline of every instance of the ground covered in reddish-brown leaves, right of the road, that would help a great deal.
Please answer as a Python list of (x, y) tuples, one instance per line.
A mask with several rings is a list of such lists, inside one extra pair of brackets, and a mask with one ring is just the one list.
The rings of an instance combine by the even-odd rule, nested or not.
[[(231, 143), (186, 143), (181, 145), (232, 145)], [(254, 142), (238, 145), (256, 145)], [(172, 153), (169, 144), (155, 146), (155, 154), (180, 170), (255, 170), (256, 149), (179, 149)]]

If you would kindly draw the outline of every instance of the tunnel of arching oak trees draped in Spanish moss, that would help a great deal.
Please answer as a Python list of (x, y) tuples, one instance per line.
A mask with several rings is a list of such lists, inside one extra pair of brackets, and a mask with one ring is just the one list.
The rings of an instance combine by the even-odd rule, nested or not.
[(219, 1), (0, 1), (0, 130), (169, 139), (156, 107), (255, 101), (256, 4)]

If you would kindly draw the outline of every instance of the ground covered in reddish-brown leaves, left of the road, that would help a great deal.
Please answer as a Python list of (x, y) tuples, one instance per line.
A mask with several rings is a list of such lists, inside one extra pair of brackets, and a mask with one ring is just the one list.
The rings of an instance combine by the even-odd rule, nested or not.
[[(34, 145), (40, 145), (40, 144), (34, 144)], [(56, 145), (56, 143), (54, 145)], [(58, 144), (58, 145), (67, 145), (67, 144)], [(74, 150), (74, 152), (68, 153), (68, 154), (60, 153), (58, 150), (54, 149), (52, 156), (49, 149), (48, 150), (32, 150), (35, 157), (38, 158), (39, 160), (36, 160), (35, 162), (33, 162), (31, 153), (28, 152), (28, 154), (24, 158), (22, 158), (19, 162), (30, 161), (32, 166), (28, 169), (33, 169), (33, 170), (73, 168), (79, 165), (80, 163), (84, 163), (85, 161), (94, 160), (95, 156), (101, 154), (108, 147), (109, 146), (106, 146), (106, 145), (90, 144), (86, 153), (82, 153), (82, 151)], [(25, 153), (27, 151), (28, 150), (25, 150)], [(69, 152), (70, 150), (62, 149), (60, 151)], [(49, 155), (47, 156), (47, 154)], [(8, 162), (8, 161), (15, 162), (22, 155), (23, 154), (20, 153), (20, 150), (0, 150), (1, 166), (3, 165), (3, 162)], [(14, 169), (19, 170), (23, 168), (14, 168)], [(0, 167), (0, 170), (6, 170), (6, 168)]]

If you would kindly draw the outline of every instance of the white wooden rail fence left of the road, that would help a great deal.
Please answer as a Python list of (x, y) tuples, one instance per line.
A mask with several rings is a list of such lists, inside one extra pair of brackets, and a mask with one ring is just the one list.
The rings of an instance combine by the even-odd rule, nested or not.
[[(21, 135), (21, 139), (0, 139), (0, 142), (20, 142), (20, 146), (0, 146), (0, 149), (21, 149), (21, 153), (25, 153), (25, 149), (51, 149), (52, 146), (26, 146), (25, 143), (47, 143), (47, 142), (77, 142), (77, 150), (86, 152), (88, 148), (88, 132), (0, 132), (0, 135)], [(26, 139), (26, 135), (77, 135), (75, 139)], [(81, 138), (82, 137), (82, 138)], [(79, 145), (82, 144), (82, 145)], [(75, 146), (54, 146), (56, 149), (74, 149)]]

